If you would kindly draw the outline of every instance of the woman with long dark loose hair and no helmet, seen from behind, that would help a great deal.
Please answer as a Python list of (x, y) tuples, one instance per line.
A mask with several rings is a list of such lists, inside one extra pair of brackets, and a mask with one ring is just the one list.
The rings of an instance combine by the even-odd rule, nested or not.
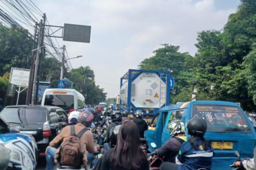
[(140, 148), (138, 127), (132, 121), (124, 121), (118, 132), (115, 148), (103, 157), (101, 170), (149, 170), (146, 155)]

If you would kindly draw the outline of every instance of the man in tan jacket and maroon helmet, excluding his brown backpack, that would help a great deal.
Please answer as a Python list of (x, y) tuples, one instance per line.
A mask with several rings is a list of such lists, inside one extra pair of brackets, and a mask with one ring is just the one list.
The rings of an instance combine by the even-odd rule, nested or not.
[[(85, 127), (90, 127), (91, 123), (93, 121), (93, 114), (90, 112), (84, 111), (82, 112), (78, 117), (77, 124), (74, 125), (75, 127), (75, 133), (78, 134), (82, 129)], [(58, 134), (50, 143), (48, 148), (46, 148), (46, 169), (53, 169), (55, 163), (57, 163), (57, 158), (59, 157), (59, 145), (62, 143), (63, 138), (68, 137), (71, 135), (71, 127), (66, 126), (62, 129), (60, 134)], [(93, 145), (93, 134), (91, 131), (86, 131), (81, 137), (80, 137), (80, 145), (82, 149), (82, 153), (84, 155), (83, 157), (83, 165), (81, 167), (84, 167), (87, 165), (87, 151), (88, 152), (94, 152), (97, 151), (98, 148), (94, 147)], [(58, 149), (56, 149), (58, 148)]]

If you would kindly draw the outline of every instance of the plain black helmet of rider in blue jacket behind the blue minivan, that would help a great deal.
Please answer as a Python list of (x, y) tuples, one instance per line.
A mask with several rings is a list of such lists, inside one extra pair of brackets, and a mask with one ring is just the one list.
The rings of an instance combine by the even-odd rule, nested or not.
[(192, 117), (187, 125), (188, 134), (203, 137), (207, 130), (207, 123), (201, 117)]

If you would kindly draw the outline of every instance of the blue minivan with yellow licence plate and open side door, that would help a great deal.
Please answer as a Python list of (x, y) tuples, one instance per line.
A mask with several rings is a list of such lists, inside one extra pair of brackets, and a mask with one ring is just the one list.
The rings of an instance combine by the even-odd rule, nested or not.
[[(212, 169), (228, 169), (237, 160), (235, 151), (241, 157), (253, 157), (256, 133), (252, 122), (243, 109), (228, 101), (188, 101), (165, 106), (158, 110), (145, 132), (149, 143), (149, 151), (160, 148), (170, 135), (168, 124), (174, 120), (182, 120), (187, 127), (191, 117), (202, 117), (207, 122), (205, 139), (212, 144), (215, 155), (212, 159)], [(185, 135), (190, 138), (186, 128)]]

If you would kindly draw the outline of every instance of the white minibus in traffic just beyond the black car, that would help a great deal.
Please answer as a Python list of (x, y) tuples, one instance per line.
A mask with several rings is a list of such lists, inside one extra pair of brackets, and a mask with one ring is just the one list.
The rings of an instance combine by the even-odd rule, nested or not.
[(41, 106), (59, 106), (67, 113), (73, 110), (82, 110), (85, 107), (85, 98), (75, 89), (46, 89)]

